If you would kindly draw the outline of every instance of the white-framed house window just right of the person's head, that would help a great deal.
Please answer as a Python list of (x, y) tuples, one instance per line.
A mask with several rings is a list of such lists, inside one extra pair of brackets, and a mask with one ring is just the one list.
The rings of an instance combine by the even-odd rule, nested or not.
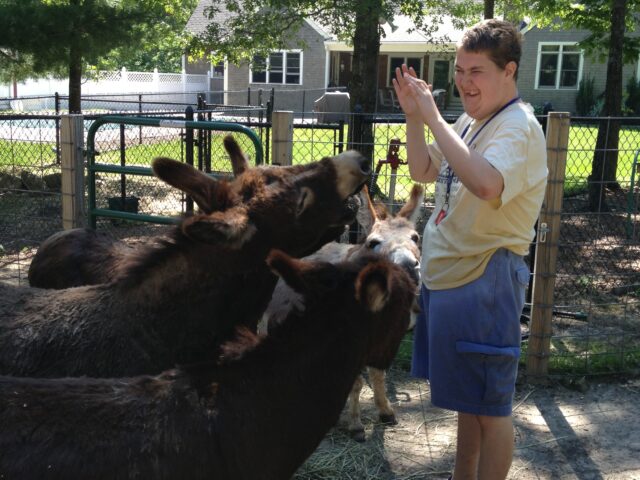
[(582, 77), (582, 51), (575, 44), (538, 45), (536, 88), (577, 89)]

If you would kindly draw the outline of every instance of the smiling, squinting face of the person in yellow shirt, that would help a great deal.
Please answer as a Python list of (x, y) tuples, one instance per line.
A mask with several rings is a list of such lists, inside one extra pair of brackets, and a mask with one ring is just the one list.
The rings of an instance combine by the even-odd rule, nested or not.
[(455, 82), (465, 112), (482, 120), (497, 111), (516, 94), (515, 62), (499, 68), (486, 52), (458, 49)]

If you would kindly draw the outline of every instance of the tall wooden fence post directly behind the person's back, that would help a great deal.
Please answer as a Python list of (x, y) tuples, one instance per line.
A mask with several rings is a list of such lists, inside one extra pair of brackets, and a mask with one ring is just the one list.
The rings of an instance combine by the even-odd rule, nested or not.
[(556, 281), (556, 259), (570, 120), (569, 113), (550, 112), (547, 123), (549, 177), (544, 203), (538, 218), (538, 245), (533, 271), (531, 325), (527, 350), (527, 377), (531, 377), (533, 382), (545, 382), (549, 369), (553, 290)]

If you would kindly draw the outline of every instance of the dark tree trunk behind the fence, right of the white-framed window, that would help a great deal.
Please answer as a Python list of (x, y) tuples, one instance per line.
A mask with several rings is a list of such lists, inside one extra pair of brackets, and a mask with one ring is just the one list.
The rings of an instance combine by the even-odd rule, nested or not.
[(605, 189), (620, 189), (616, 179), (618, 169), (618, 140), (620, 137), (620, 117), (622, 114), (622, 42), (625, 33), (627, 0), (613, 0), (611, 12), (611, 33), (607, 80), (605, 84), (603, 117), (600, 122), (598, 139), (593, 154), (591, 175), (589, 176), (589, 208), (593, 212), (608, 211)]

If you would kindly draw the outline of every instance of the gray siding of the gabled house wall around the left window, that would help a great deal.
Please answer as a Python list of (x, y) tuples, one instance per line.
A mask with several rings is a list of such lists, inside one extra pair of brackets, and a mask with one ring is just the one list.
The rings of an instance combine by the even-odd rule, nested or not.
[[(296, 34), (296, 38), (300, 37), (307, 45), (302, 54), (302, 85), (249, 83), (248, 65), (229, 65), (226, 70), (227, 103), (246, 104), (250, 88), (251, 104), (258, 104), (258, 91), (262, 90), (262, 102), (266, 105), (273, 88), (274, 110), (311, 111), (314, 100), (322, 96), (326, 87), (324, 37), (306, 22)], [(294, 41), (289, 47), (299, 48)]]

